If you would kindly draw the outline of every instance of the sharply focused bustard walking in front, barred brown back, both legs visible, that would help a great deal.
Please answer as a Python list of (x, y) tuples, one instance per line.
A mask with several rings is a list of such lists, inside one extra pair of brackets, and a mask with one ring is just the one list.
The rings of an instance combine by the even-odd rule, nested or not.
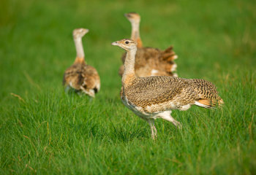
[(138, 77), (135, 74), (137, 42), (121, 39), (113, 45), (127, 51), (124, 74), (121, 79), (121, 101), (132, 112), (146, 120), (152, 139), (157, 138), (154, 120), (162, 118), (181, 128), (181, 123), (170, 114), (172, 110), (185, 111), (192, 105), (214, 109), (224, 104), (217, 88), (204, 79), (184, 79), (170, 76)]

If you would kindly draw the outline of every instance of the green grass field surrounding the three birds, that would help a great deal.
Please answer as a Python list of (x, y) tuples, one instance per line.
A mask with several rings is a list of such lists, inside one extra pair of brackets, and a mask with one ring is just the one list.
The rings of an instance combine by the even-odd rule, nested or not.
[[(0, 5), (0, 174), (256, 174), (255, 1), (18, 1)], [(173, 111), (148, 124), (119, 98), (124, 12), (141, 15), (145, 46), (174, 45), (178, 75), (207, 79), (222, 109)], [(67, 96), (74, 28), (101, 90)]]

